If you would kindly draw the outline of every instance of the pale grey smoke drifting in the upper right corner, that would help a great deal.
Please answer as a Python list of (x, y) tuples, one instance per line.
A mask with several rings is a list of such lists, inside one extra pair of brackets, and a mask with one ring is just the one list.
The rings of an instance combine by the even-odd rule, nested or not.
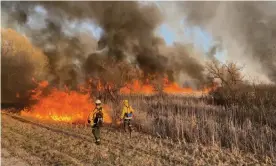
[(227, 49), (228, 59), (245, 64), (248, 74), (276, 82), (275, 6), (275, 2), (175, 2), (174, 10), (189, 25), (211, 33)]

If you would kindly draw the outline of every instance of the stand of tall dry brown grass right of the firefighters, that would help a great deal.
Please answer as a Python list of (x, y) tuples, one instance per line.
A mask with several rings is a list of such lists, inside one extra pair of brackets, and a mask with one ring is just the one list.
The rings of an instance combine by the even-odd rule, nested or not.
[[(231, 98), (224, 98), (229, 100), (225, 107), (195, 97), (122, 98), (129, 99), (136, 109), (134, 123), (142, 132), (177, 142), (219, 145), (275, 158), (275, 86), (244, 87)], [(116, 117), (120, 106), (113, 108)]]

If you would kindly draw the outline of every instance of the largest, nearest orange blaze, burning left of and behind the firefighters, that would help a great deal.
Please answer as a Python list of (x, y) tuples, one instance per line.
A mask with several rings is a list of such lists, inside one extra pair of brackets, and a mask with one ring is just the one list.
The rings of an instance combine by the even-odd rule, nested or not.
[[(22, 110), (22, 116), (70, 123), (85, 123), (87, 121), (88, 115), (95, 108), (88, 93), (82, 94), (77, 91), (61, 91), (53, 88), (47, 96), (43, 96), (43, 89), (47, 86), (48, 82), (42, 81), (38, 88), (32, 91), (34, 93), (32, 99), (38, 100), (38, 102), (30, 109)], [(112, 122), (109, 115), (110, 108), (107, 105), (104, 105), (103, 108), (104, 122), (110, 124)]]

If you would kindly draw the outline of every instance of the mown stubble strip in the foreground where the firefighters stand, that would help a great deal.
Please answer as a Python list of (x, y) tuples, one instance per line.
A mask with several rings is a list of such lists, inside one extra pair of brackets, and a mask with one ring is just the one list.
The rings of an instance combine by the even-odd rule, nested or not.
[[(2, 113), (2, 148), (29, 165), (271, 165), (252, 154), (195, 144), (175, 144), (135, 133), (128, 139), (105, 128), (95, 145), (89, 127), (38, 122)], [(3, 152), (2, 152), (2, 157)], [(5, 162), (6, 163), (5, 163)], [(2, 160), (2, 165), (9, 165)]]

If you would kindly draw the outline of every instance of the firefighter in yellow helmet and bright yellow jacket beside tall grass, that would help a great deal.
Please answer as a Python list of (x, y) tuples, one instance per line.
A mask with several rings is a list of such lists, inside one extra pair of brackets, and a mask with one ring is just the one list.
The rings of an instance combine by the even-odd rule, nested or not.
[(132, 125), (131, 125), (131, 121), (133, 118), (133, 113), (134, 110), (133, 108), (129, 105), (128, 100), (124, 100), (123, 101), (123, 109), (122, 109), (122, 114), (121, 114), (121, 120), (123, 120), (124, 122), (124, 130), (125, 132), (127, 131), (127, 127), (129, 129), (129, 132), (131, 133), (132, 131)]

